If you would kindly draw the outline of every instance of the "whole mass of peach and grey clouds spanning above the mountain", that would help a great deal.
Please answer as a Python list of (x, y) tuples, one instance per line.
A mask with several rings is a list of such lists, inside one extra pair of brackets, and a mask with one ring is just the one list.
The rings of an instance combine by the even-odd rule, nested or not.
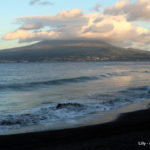
[[(148, 49), (150, 30), (137, 26), (132, 21), (150, 19), (149, 3), (149, 0), (137, 0), (134, 3), (123, 0), (106, 8), (104, 13), (84, 13), (81, 9), (73, 9), (55, 15), (20, 17), (17, 18), (20, 27), (6, 34), (3, 39), (17, 39), (19, 42), (99, 39), (122, 47)], [(143, 11), (136, 13), (139, 8), (143, 8)]]

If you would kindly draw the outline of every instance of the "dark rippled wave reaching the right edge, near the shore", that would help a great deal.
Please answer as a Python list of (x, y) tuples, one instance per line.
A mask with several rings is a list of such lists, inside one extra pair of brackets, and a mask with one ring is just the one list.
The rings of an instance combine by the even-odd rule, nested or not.
[(117, 103), (133, 103), (150, 98), (150, 86), (139, 86), (127, 88), (118, 91), (115, 94), (99, 94), (94, 93), (88, 96), (89, 99), (99, 100), (102, 104), (116, 105)]

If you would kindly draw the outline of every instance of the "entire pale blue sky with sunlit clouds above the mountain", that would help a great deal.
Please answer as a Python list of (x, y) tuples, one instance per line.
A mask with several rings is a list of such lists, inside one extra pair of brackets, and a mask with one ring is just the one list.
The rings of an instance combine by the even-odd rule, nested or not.
[(0, 50), (82, 38), (150, 51), (150, 0), (4, 0), (0, 19)]

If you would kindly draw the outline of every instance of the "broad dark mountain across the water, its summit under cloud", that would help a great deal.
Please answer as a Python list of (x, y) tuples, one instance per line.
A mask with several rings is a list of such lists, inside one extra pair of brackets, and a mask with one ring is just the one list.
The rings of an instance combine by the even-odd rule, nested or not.
[(0, 51), (0, 62), (150, 60), (150, 52), (102, 41), (51, 40)]

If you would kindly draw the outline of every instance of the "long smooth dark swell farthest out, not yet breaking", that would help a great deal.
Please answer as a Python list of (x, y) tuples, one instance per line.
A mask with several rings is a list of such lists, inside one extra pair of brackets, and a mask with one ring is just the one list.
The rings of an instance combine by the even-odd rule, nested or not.
[(0, 84), (0, 89), (14, 89), (14, 90), (26, 90), (27, 88), (34, 88), (39, 86), (48, 86), (48, 85), (62, 85), (68, 83), (79, 83), (87, 82), (90, 80), (103, 80), (105, 78), (125, 76), (128, 75), (128, 72), (109, 72), (96, 76), (80, 76), (74, 78), (64, 78), (64, 79), (55, 79), (49, 81), (39, 81), (39, 82), (29, 82), (29, 83), (13, 83), (13, 84)]

